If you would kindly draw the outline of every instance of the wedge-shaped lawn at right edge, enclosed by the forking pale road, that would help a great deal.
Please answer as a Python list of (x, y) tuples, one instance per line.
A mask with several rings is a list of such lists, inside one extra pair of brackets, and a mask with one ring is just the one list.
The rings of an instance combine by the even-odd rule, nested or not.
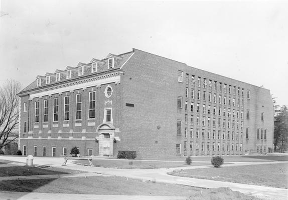
[(171, 175), (288, 188), (288, 164), (255, 164), (186, 169)]

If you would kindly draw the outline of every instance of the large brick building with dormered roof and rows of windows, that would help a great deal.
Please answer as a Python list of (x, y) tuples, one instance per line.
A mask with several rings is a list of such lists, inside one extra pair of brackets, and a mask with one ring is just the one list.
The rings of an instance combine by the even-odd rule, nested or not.
[(138, 158), (273, 147), (268, 89), (133, 49), (38, 75), (20, 93), (24, 154)]

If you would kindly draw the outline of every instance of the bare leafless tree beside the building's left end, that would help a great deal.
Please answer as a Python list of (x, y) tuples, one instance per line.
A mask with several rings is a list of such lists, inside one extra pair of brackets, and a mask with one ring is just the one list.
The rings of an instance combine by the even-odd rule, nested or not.
[(21, 84), (7, 80), (0, 86), (0, 150), (18, 139), (19, 93)]

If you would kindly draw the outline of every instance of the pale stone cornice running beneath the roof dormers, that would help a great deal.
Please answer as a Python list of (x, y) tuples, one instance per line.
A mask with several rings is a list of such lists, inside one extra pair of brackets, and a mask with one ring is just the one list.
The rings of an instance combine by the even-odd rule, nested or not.
[[(49, 85), (49, 87), (42, 87), (42, 88), (34, 88), (28, 91), (24, 91), (24, 92), (20, 92), (18, 95), (19, 96), (24, 96), (24, 95), (28, 95), (28, 94), (36, 94), (36, 93), (43, 93), (43, 92), (49, 92), (49, 91), (53, 91), (53, 90), (57, 90), (60, 88), (65, 88), (65, 87), (71, 87), (71, 86), (76, 86), (76, 85), (80, 85), (80, 84), (85, 84), (85, 83), (89, 83), (89, 82), (95, 82), (95, 81), (99, 81), (99, 80), (103, 80), (106, 78), (111, 78), (111, 77), (115, 77), (115, 76), (119, 76), (121, 74), (123, 74), (124, 71), (122, 70), (117, 70), (117, 71), (106, 71), (104, 74), (99, 74), (96, 76), (86, 76), (86, 77), (81, 77), (81, 78), (77, 78), (74, 80), (70, 80), (70, 81), (65, 81), (65, 82), (60, 82), (60, 83), (56, 83), (54, 85)], [(118, 80), (119, 81), (119, 80)], [(118, 82), (116, 81), (116, 82)], [(70, 91), (70, 90), (69, 90)]]

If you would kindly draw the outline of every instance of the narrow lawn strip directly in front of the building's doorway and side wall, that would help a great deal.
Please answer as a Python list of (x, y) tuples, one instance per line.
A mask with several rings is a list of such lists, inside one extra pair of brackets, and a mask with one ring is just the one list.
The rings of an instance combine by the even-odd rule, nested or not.
[[(89, 165), (88, 160), (77, 160), (74, 163)], [(94, 166), (109, 168), (125, 168), (125, 169), (151, 169), (151, 168), (170, 168), (178, 166), (196, 166), (207, 165), (207, 162), (192, 162), (191, 165), (182, 161), (157, 161), (157, 160), (128, 160), (128, 159), (94, 159)]]

